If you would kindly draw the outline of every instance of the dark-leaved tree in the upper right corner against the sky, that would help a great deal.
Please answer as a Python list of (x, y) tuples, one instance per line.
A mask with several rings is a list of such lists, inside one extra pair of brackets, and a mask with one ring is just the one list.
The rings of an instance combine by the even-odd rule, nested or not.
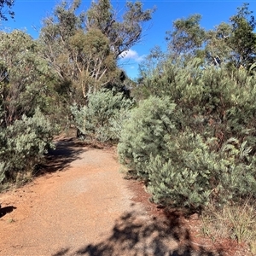
[(255, 61), (256, 21), (249, 4), (237, 9), (230, 22), (223, 22), (214, 30), (207, 32), (207, 59), (215, 65), (228, 63), (232, 67), (250, 67)]

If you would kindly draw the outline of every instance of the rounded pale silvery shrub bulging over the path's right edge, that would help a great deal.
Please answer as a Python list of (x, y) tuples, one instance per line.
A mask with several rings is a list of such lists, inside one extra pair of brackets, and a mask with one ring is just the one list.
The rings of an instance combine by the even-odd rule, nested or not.
[(152, 96), (140, 102), (125, 121), (118, 145), (120, 162), (147, 179), (150, 156), (165, 156), (170, 134), (177, 132), (177, 120), (175, 104), (169, 97)]

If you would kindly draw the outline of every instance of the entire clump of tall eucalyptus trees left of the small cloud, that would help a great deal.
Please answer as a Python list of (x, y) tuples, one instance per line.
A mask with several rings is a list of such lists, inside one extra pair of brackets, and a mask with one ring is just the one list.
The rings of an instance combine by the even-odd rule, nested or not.
[(141, 40), (143, 23), (153, 10), (143, 11), (140, 2), (127, 3), (119, 21), (107, 0), (93, 2), (80, 13), (79, 6), (79, 0), (56, 6), (54, 15), (44, 20), (39, 41), (70, 102), (83, 105), (90, 92), (122, 83), (117, 59)]

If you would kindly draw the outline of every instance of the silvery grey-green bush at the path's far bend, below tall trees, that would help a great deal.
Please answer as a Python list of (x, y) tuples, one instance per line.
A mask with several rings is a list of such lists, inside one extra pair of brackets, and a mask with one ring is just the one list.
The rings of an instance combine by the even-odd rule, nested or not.
[(79, 133), (87, 141), (117, 141), (122, 122), (134, 105), (122, 93), (113, 94), (111, 90), (100, 90), (89, 95), (87, 106), (73, 106), (71, 111)]

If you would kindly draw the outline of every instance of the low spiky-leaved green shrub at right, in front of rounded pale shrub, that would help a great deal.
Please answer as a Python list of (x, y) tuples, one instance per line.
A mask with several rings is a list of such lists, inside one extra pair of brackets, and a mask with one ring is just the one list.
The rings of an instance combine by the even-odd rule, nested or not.
[(148, 190), (154, 201), (175, 207), (207, 205), (212, 193), (210, 180), (218, 170), (214, 156), (199, 135), (184, 132), (169, 139), (164, 153), (167, 160), (160, 152), (150, 157), (147, 166)]

